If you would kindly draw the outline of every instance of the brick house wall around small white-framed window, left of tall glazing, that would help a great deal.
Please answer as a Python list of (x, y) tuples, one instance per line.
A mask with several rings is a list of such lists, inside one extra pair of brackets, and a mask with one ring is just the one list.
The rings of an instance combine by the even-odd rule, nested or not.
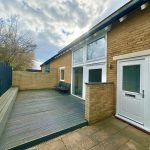
[(72, 53), (67, 52), (50, 63), (50, 68), (58, 70), (57, 81), (60, 80), (60, 67), (65, 67), (65, 82), (71, 83), (71, 64), (72, 64)]

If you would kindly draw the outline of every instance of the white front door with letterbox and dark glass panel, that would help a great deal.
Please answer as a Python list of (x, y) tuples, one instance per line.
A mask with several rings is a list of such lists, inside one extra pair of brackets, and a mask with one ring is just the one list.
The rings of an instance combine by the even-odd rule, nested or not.
[(127, 59), (118, 62), (117, 113), (144, 125), (146, 59)]

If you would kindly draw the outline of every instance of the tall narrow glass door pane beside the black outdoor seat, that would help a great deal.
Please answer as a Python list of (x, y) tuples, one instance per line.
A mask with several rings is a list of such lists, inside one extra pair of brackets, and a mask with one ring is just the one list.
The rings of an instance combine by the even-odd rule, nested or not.
[(82, 97), (83, 67), (73, 68), (73, 94)]

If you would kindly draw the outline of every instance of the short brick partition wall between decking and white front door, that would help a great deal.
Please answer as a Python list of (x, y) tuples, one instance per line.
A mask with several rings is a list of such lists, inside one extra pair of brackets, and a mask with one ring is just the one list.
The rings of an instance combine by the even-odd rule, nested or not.
[(89, 124), (114, 115), (115, 93), (113, 83), (87, 83), (85, 118)]

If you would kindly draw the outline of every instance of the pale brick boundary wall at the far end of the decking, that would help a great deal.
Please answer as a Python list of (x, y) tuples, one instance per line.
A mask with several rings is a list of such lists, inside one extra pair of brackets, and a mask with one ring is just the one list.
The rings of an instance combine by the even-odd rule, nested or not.
[(20, 90), (53, 88), (57, 84), (57, 70), (50, 73), (13, 71), (12, 86)]

